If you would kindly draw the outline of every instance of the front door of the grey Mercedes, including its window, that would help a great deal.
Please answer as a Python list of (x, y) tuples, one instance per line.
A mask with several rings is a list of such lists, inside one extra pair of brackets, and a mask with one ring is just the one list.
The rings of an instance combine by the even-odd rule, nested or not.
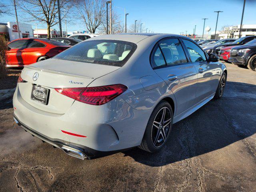
[(191, 62), (194, 64), (198, 76), (198, 86), (196, 90), (196, 103), (208, 98), (216, 92), (218, 86), (218, 63), (208, 62), (208, 56), (194, 42), (182, 38)]

